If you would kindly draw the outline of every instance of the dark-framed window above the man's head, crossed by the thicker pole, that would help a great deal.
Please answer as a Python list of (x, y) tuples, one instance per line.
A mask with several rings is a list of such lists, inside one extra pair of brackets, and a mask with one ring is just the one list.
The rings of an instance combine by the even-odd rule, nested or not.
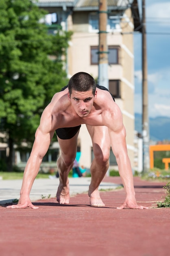
[[(119, 49), (118, 46), (108, 46), (108, 62), (109, 65), (120, 64), (119, 63)], [(90, 47), (90, 61), (91, 65), (98, 65), (98, 46)]]

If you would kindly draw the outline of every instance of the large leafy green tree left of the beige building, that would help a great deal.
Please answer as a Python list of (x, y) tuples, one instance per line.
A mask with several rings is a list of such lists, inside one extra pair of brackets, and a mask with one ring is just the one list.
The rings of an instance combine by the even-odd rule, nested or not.
[(43, 109), (68, 82), (61, 57), (72, 33), (48, 34), (40, 22), (45, 14), (32, 0), (0, 0), (0, 131), (9, 144), (8, 171), (14, 144), (33, 142)]

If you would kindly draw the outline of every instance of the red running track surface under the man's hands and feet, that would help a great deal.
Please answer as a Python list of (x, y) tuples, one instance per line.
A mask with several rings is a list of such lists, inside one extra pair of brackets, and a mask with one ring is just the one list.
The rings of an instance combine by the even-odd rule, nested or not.
[[(120, 177), (105, 177), (120, 184)], [(100, 192), (105, 207), (89, 206), (87, 193), (60, 205), (55, 198), (34, 202), (39, 209), (0, 207), (1, 256), (169, 256), (170, 209), (155, 208), (165, 199), (165, 182), (134, 177), (138, 204), (145, 210), (116, 207), (124, 190)]]

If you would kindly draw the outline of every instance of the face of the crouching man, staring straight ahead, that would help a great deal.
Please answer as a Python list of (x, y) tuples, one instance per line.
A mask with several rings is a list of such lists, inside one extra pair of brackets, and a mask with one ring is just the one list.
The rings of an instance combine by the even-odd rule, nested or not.
[(86, 92), (72, 90), (72, 94), (69, 94), (68, 92), (68, 99), (71, 101), (72, 106), (79, 117), (87, 117), (87, 115), (89, 115), (96, 97), (97, 91), (93, 95), (92, 90)]

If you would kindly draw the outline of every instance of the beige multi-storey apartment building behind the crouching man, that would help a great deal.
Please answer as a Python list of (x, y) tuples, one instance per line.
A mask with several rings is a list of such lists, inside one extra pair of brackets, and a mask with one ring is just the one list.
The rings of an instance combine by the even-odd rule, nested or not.
[[(98, 79), (98, 0), (39, 0), (39, 8), (51, 15), (46, 23), (55, 30), (61, 25), (73, 31), (67, 55), (68, 77), (76, 72), (87, 72)], [(134, 167), (134, 55), (133, 31), (139, 27), (137, 0), (108, 0), (107, 45), (109, 90), (120, 106), (126, 128), (126, 142)], [(135, 17), (135, 18), (134, 18)], [(54, 31), (55, 32), (55, 31)], [(92, 141), (86, 126), (81, 127), (80, 163), (89, 168), (93, 159)], [(113, 154), (111, 168), (116, 168)]]

